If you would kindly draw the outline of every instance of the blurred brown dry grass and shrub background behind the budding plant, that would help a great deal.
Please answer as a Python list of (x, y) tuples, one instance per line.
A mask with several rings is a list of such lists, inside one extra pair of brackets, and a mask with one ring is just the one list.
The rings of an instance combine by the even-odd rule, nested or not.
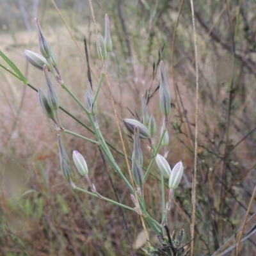
[[(189, 241), (195, 134), (195, 51), (189, 1), (92, 1), (97, 28), (104, 35), (108, 13), (113, 52), (109, 81), (121, 118), (141, 118), (141, 95), (151, 88), (150, 114), (162, 125), (159, 108), (159, 60), (164, 61), (172, 93), (168, 162), (184, 163), (184, 177), (169, 215), (169, 228), (184, 228)], [(0, 50), (45, 90), (43, 72), (28, 64), (24, 49), (39, 52), (34, 17), (58, 59), (68, 88), (83, 102), (88, 44), (95, 90), (101, 63), (88, 0), (0, 0)], [(256, 1), (195, 1), (199, 54), (199, 139), (195, 255), (220, 255), (236, 247), (256, 184)], [(177, 20), (179, 19), (179, 23)], [(177, 26), (176, 26), (177, 25)], [(74, 39), (72, 39), (72, 36)], [(77, 45), (75, 44), (77, 42)], [(175, 42), (175, 44), (173, 44)], [(5, 65), (3, 60), (0, 63)], [(38, 104), (38, 95), (0, 68), (0, 255), (144, 255), (145, 237), (137, 214), (73, 191), (60, 170), (57, 131)], [(61, 106), (90, 126), (81, 108), (57, 88)], [(98, 121), (106, 140), (122, 150), (106, 81), (102, 84)], [(129, 111), (129, 109), (131, 111)], [(132, 112), (132, 113), (131, 113)], [(63, 127), (88, 138), (93, 134), (61, 112)], [(120, 122), (122, 124), (122, 122)], [(124, 134), (125, 134), (124, 130)], [(134, 207), (129, 190), (110, 168), (104, 168), (95, 145), (68, 134), (67, 153), (85, 157), (90, 177), (102, 195)], [(129, 155), (132, 143), (125, 136)], [(145, 149), (145, 166), (149, 154)], [(128, 177), (124, 158), (113, 150)], [(156, 167), (156, 166), (155, 166)], [(74, 165), (73, 180), (88, 189)], [(157, 169), (157, 168), (156, 168)], [(153, 173), (157, 174), (154, 169)], [(161, 221), (161, 187), (154, 177), (145, 184), (148, 212)], [(241, 255), (256, 255), (256, 198), (244, 232)], [(150, 241), (157, 239), (149, 229)], [(234, 239), (231, 239), (234, 236)], [(234, 255), (226, 252), (221, 255)]]

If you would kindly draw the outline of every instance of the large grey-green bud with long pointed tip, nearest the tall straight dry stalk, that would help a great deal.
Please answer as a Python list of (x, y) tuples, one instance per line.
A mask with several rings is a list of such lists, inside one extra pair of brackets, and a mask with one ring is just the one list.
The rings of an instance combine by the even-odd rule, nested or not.
[(161, 74), (160, 88), (159, 88), (160, 108), (163, 115), (167, 116), (169, 115), (171, 110), (171, 96), (170, 96), (170, 88), (166, 79), (163, 61), (161, 61), (160, 63), (160, 74)]

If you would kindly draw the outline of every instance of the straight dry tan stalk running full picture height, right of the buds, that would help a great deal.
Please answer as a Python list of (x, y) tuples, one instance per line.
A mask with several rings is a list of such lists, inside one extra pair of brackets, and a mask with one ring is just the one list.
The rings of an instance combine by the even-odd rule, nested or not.
[[(193, 0), (191, 3), (191, 13), (193, 22), (193, 34), (194, 34), (194, 45), (195, 45), (195, 64), (196, 64), (196, 118), (195, 118), (195, 163), (193, 173), (193, 188), (192, 188), (192, 216), (191, 216), (191, 239), (194, 238), (195, 234), (195, 213), (196, 213), (196, 168), (197, 168), (197, 140), (198, 140), (198, 87), (199, 87), (199, 72), (198, 72), (198, 52), (196, 42), (196, 25), (195, 25), (195, 13)], [(191, 256), (193, 256), (194, 240), (191, 241)]]

